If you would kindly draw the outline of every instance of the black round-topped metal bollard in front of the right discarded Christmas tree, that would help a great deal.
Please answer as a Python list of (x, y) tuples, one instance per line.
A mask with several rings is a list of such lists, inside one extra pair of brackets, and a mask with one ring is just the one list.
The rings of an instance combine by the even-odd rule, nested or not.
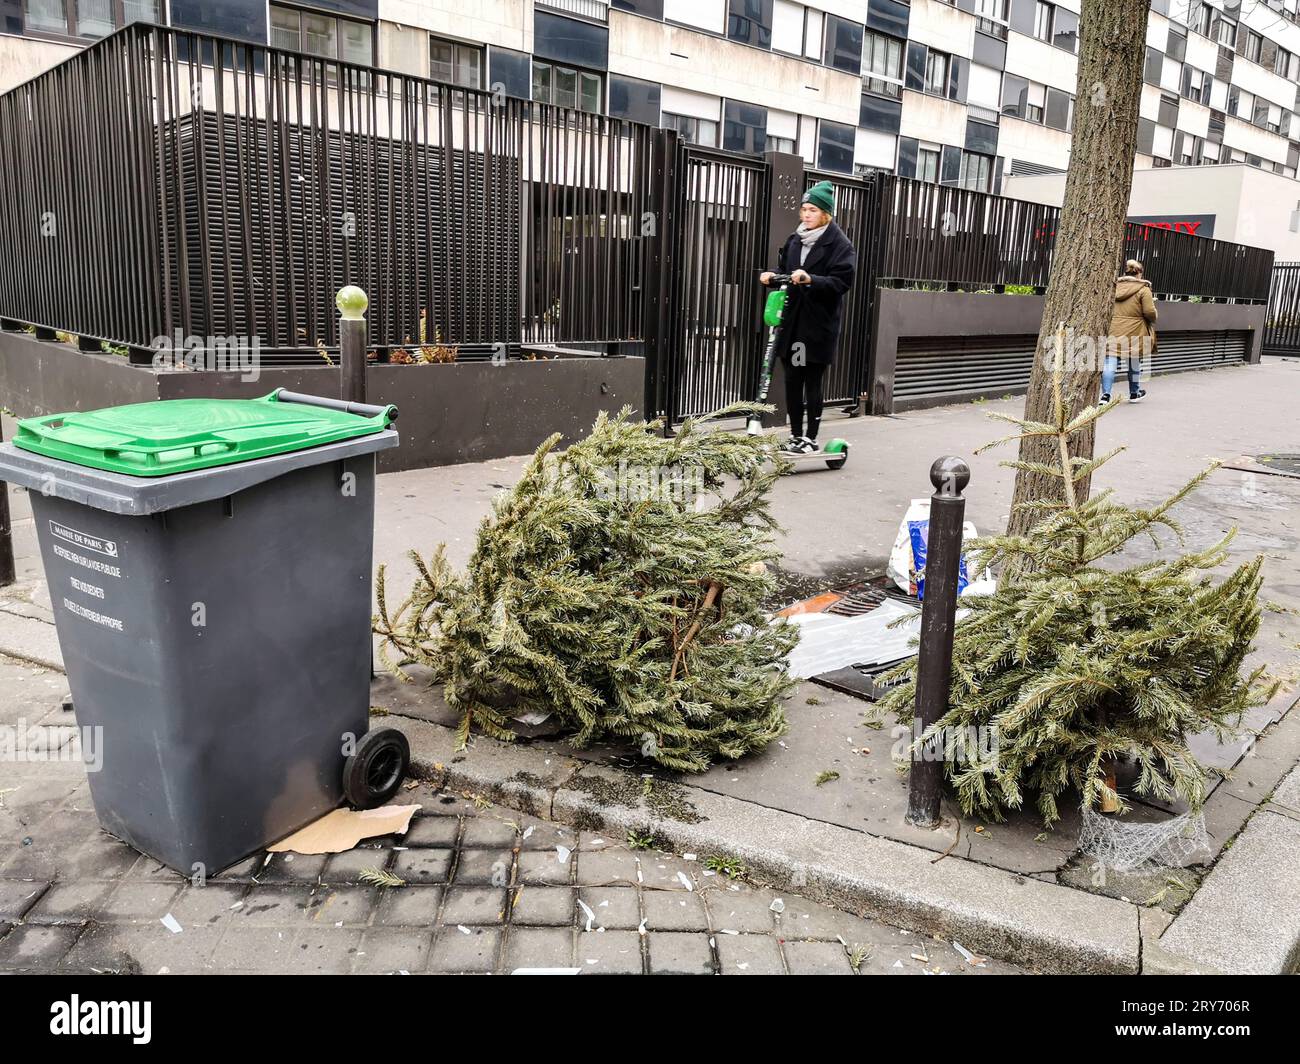
[[(948, 455), (930, 467), (935, 494), (930, 499), (930, 535), (926, 544), (926, 597), (920, 605), (920, 650), (916, 661), (916, 714), (913, 739), (948, 712), (953, 671), (953, 628), (957, 624), (957, 576), (962, 559), (962, 522), (970, 467)], [(927, 743), (913, 754), (907, 782), (907, 823), (939, 823), (942, 788), (941, 741)]]

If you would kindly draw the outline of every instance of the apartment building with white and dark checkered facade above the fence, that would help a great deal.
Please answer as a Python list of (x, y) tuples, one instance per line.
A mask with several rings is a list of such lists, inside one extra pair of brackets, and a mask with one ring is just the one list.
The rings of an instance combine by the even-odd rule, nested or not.
[[(1138, 168), (1300, 163), (1300, 0), (1152, 0)], [(1000, 191), (1062, 172), (1080, 0), (0, 0), (0, 88), (134, 18)]]

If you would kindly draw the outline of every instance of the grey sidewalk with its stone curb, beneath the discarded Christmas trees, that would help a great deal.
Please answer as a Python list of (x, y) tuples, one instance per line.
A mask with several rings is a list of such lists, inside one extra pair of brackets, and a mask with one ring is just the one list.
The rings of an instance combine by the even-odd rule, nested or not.
[[(1124, 501), (1162, 498), (1212, 458), (1240, 464), (1242, 455), (1300, 451), (1292, 408), (1300, 394), (1300, 363), (1269, 359), (1258, 367), (1160, 377), (1149, 392), (1141, 406), (1121, 407), (1100, 424), (1098, 453), (1119, 442), (1128, 451), (1100, 472), (1095, 488), (1115, 486)], [(844, 436), (853, 445), (848, 466), (797, 473), (775, 489), (774, 511), (786, 528), (784, 598), (883, 571), (907, 499), (930, 494), (928, 468), (941, 454), (962, 455), (971, 464), (967, 518), (980, 531), (1002, 525), (1011, 473), (997, 463), (1013, 453), (974, 455), (974, 450), (1002, 434), (987, 411), (1022, 407), (1023, 399), (1015, 398), (829, 421), (826, 434)], [(380, 479), (376, 561), (389, 566), (390, 596), (396, 597), (411, 579), (404, 559), (411, 548), (428, 553), (441, 541), (454, 565), (468, 561), (491, 497), (514, 483), (524, 460)], [(0, 607), (5, 610), (0, 648), (53, 662), (57, 644), (46, 623), (48, 600), (35, 580), (39, 565), (30, 520), (23, 522), (26, 501), (13, 501), (20, 580), (27, 581), (29, 594)], [(1180, 870), (1176, 890), (1169, 888), (1164, 874), (1095, 882), (1093, 871), (1074, 855), (1078, 822), (1070, 817), (1044, 835), (1032, 816), (1005, 825), (961, 822), (945, 803), (945, 822), (937, 831), (907, 827), (906, 783), (890, 760), (896, 738), (863, 727), (866, 702), (815, 684), (802, 684), (790, 700), (790, 734), (780, 745), (701, 777), (651, 773), (649, 786), (642, 780), (646, 767), (612, 748), (572, 751), (545, 740), (503, 747), (478, 736), (458, 754), (447, 727), (454, 717), (428, 688), (380, 678), (372, 701), (389, 709), (393, 722), (407, 718), (403, 727), (417, 762), (434, 783), (474, 790), (615, 839), (628, 829), (653, 829), (675, 849), (740, 857), (779, 886), (798, 883), (812, 899), (941, 933), (978, 952), (1052, 970), (1284, 966), (1300, 943), (1300, 904), (1290, 912), (1279, 905), (1300, 883), (1300, 813), (1282, 799), (1265, 803), (1300, 761), (1300, 714), (1287, 713), (1300, 676), (1300, 614), (1294, 613), (1300, 610), (1300, 479), (1274, 475), (1262, 464), (1223, 468), (1178, 516), (1190, 546), (1238, 524), (1234, 563), (1266, 555), (1261, 598), (1270, 609), (1256, 656), (1290, 678), (1288, 689), (1248, 722), (1262, 731), (1261, 738), (1252, 741), (1243, 735), (1223, 747), (1197, 740), (1197, 753), (1212, 766), (1234, 770), (1231, 779), (1216, 782), (1205, 810), (1213, 856), (1248, 821), (1243, 839), (1256, 832), (1273, 840), (1234, 847), (1231, 862), (1225, 858), (1219, 866), (1221, 878), (1231, 875), (1245, 886), (1227, 892), (1225, 901), (1214, 900), (1225, 894), (1214, 888), (1219, 869), (1205, 865)], [(818, 787), (823, 770), (838, 771), (840, 778)], [(1286, 787), (1282, 793), (1288, 793)], [(1164, 816), (1153, 805), (1134, 813), (1143, 819)], [(1247, 858), (1253, 864), (1243, 877), (1239, 865)], [(1202, 881), (1206, 887), (1197, 892)], [(1243, 890), (1257, 895), (1256, 912), (1264, 913), (1254, 924), (1225, 911), (1251, 908), (1249, 898), (1238, 896)], [(1188, 895), (1193, 904), (1183, 908)], [(1147, 905), (1152, 899), (1158, 903)], [(1179, 916), (1169, 940), (1180, 944), (1178, 957), (1160, 959), (1158, 939), (1174, 912)], [(1188, 935), (1179, 930), (1180, 921), (1204, 926)], [(1212, 942), (1216, 927), (1231, 931), (1228, 940)], [(1261, 946), (1256, 938), (1269, 942)], [(1256, 960), (1234, 951), (1253, 952)]]

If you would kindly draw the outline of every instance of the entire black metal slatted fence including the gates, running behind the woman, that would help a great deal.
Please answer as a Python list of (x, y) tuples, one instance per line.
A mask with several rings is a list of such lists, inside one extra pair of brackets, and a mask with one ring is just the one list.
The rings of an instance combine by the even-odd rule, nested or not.
[[(868, 390), (878, 282), (1048, 282), (1057, 208), (802, 177), (858, 250), (829, 402)], [(460, 358), (630, 345), (671, 423), (754, 394), (772, 185), (670, 130), (134, 23), (0, 96), (0, 317), (292, 360), (337, 345), (333, 293), (360, 284), (381, 358), (421, 330)], [(1261, 248), (1130, 225), (1124, 255), (1166, 298), (1269, 297)]]

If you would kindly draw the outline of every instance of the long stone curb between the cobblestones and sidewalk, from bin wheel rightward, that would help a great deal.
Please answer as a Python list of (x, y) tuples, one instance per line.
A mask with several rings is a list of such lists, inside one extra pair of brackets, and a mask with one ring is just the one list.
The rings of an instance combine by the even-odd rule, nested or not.
[(1141, 970), (1141, 909), (1131, 903), (959, 857), (936, 864), (928, 849), (698, 787), (562, 757), (540, 766), (525, 747), (485, 736), (456, 753), (450, 728), (385, 723), (410, 740), (413, 775), (530, 816), (610, 834), (649, 829), (668, 849), (734, 856), (780, 890), (1041, 972)]

